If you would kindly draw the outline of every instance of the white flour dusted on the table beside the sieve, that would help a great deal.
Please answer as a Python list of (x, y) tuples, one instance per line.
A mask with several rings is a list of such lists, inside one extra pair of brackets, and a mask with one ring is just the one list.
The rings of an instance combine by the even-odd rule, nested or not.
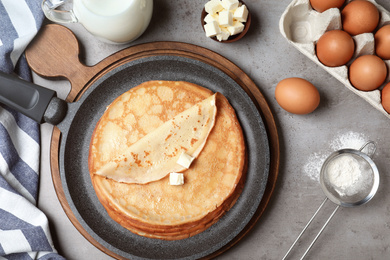
[[(335, 137), (329, 144), (330, 152), (334, 152), (340, 149), (360, 149), (368, 141), (364, 134), (356, 133), (353, 131), (347, 133), (341, 133)], [(303, 166), (304, 173), (314, 181), (320, 180), (320, 171), (322, 164), (326, 158), (330, 155), (329, 149), (323, 151), (314, 152), (311, 154)]]

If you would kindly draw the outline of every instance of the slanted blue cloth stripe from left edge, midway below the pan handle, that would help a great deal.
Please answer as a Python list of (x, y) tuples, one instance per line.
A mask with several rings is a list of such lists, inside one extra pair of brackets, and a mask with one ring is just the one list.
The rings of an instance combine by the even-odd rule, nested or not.
[(10, 172), (23, 187), (37, 200), (38, 174), (20, 159), (7, 129), (0, 123), (0, 154), (8, 164)]

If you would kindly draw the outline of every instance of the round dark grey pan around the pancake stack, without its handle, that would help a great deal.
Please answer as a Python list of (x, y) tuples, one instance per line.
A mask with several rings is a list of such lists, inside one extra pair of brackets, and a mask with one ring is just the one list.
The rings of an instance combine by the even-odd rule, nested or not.
[[(246, 139), (245, 188), (233, 208), (193, 237), (164, 241), (135, 235), (113, 221), (100, 204), (88, 172), (92, 132), (106, 107), (119, 95), (149, 80), (183, 80), (220, 92), (234, 107)], [(130, 259), (198, 259), (232, 241), (255, 214), (267, 184), (270, 150), (261, 115), (247, 93), (222, 71), (180, 56), (141, 58), (112, 70), (70, 104), (62, 130), (60, 175), (66, 199), (82, 227), (103, 247)]]

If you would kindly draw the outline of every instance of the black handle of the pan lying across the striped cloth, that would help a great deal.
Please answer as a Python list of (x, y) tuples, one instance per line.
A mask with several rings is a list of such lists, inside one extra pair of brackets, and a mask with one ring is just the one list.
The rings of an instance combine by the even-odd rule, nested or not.
[(0, 103), (34, 119), (38, 123), (60, 123), (67, 112), (67, 103), (56, 92), (16, 75), (0, 71)]

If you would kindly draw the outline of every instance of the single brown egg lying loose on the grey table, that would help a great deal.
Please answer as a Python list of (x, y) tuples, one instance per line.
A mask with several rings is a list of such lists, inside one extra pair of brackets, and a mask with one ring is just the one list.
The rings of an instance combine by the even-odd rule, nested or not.
[(286, 78), (275, 88), (278, 104), (293, 114), (309, 114), (320, 103), (320, 93), (309, 81), (302, 78)]

